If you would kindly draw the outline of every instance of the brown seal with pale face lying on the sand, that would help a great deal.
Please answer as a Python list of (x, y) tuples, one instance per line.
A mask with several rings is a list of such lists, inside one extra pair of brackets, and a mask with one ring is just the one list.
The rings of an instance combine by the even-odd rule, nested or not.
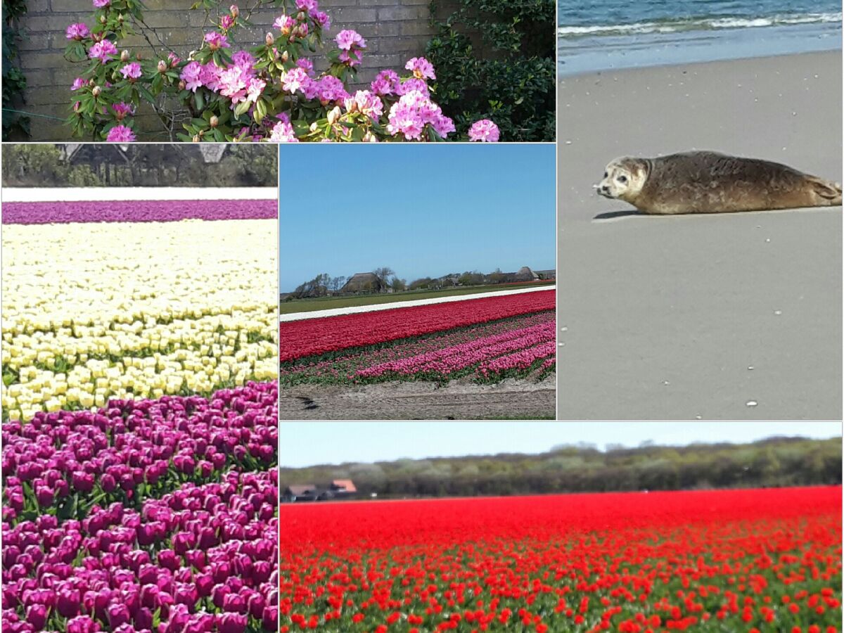
[(770, 160), (717, 152), (653, 159), (625, 156), (607, 165), (598, 195), (644, 214), (723, 214), (841, 204), (841, 185)]

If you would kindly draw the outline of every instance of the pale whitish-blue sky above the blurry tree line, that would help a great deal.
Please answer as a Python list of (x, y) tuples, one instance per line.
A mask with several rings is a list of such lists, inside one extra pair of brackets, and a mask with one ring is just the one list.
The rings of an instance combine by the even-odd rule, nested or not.
[[(587, 442), (639, 446), (733, 443), (771, 436), (841, 437), (840, 422), (282, 422), (279, 464), (378, 462), (399, 457), (538, 453)], [(326, 441), (327, 437), (338, 441)]]

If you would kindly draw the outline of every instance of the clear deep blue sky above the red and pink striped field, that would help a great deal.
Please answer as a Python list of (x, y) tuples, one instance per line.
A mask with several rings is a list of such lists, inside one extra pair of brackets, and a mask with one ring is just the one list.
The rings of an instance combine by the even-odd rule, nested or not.
[(382, 266), (555, 268), (553, 145), (282, 144), (280, 165), (282, 292)]

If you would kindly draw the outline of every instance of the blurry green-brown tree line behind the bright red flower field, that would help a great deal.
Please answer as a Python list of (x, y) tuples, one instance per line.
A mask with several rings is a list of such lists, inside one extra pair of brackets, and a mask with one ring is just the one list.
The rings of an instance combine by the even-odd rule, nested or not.
[[(284, 446), (281, 448), (284, 453)], [(398, 459), (280, 468), (281, 488), (353, 479), (379, 497), (538, 495), (841, 484), (841, 439), (637, 448), (557, 446), (538, 455)]]

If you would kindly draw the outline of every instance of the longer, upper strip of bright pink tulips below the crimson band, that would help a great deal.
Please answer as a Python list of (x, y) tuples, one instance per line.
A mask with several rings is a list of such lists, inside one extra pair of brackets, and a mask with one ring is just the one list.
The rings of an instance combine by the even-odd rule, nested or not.
[(410, 358), (373, 365), (359, 370), (357, 375), (364, 378), (379, 377), (385, 374), (389, 376), (425, 374), (447, 377), (474, 365), (481, 364), (483, 366), (490, 360), (506, 354), (521, 352), (538, 344), (550, 343), (553, 347), (554, 341), (555, 322), (547, 321), (531, 327), (437, 349)]

